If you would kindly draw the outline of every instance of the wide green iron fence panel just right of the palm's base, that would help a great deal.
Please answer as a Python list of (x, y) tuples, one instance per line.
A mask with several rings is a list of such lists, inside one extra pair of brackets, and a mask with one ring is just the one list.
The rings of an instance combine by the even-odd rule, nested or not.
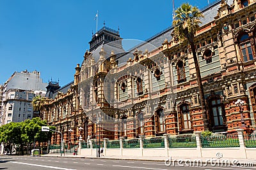
[(239, 147), (237, 134), (212, 134), (211, 136), (201, 136), (202, 148), (229, 148)]

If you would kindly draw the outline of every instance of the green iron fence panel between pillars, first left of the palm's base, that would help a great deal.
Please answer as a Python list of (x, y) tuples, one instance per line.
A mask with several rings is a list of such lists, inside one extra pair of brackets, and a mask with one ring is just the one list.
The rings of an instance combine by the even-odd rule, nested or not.
[(196, 148), (196, 136), (185, 134), (178, 136), (168, 136), (169, 148)]

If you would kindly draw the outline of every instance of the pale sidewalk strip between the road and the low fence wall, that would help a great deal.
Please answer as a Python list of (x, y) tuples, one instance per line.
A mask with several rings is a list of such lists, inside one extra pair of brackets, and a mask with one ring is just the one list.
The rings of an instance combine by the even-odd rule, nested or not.
[[(49, 153), (47, 155), (42, 155), (42, 157), (61, 157), (60, 153)], [(217, 162), (225, 162), (225, 160), (230, 160), (230, 162), (236, 161), (239, 163), (252, 163), (253, 166), (256, 166), (256, 160), (255, 159), (233, 159), (233, 158), (221, 158), (217, 159), (215, 158), (202, 158), (202, 157), (147, 157), (147, 156), (104, 156), (104, 157), (92, 157), (88, 155), (73, 155), (73, 154), (62, 154), (62, 157), (72, 157), (72, 158), (83, 158), (83, 159), (115, 159), (115, 160), (144, 160), (144, 161), (157, 161), (157, 162), (165, 162), (166, 160), (171, 160), (172, 162), (178, 162), (179, 160), (182, 160), (183, 164), (184, 162), (193, 162), (193, 160), (200, 160), (202, 163), (207, 162), (208, 164), (211, 164), (211, 160)], [(170, 162), (170, 161), (169, 161)], [(169, 163), (166, 162), (166, 163)]]

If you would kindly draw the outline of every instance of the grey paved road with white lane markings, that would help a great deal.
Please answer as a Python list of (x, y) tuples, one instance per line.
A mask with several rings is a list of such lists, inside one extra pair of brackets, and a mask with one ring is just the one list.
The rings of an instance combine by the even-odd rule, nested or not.
[(80, 169), (234, 169), (234, 170), (256, 170), (256, 167), (180, 167), (166, 166), (164, 162), (139, 161), (139, 160), (111, 160), (111, 159), (83, 159), (67, 157), (29, 157), (29, 156), (0, 156), (0, 169), (12, 170), (45, 170), (45, 169), (63, 169), (63, 170), (80, 170)]

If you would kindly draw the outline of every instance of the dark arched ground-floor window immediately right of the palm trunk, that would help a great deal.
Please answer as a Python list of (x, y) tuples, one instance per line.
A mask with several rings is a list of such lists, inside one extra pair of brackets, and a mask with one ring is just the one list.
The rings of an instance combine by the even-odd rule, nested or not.
[(209, 108), (211, 112), (212, 126), (218, 127), (224, 125), (222, 105), (220, 98), (213, 98), (209, 101)]

